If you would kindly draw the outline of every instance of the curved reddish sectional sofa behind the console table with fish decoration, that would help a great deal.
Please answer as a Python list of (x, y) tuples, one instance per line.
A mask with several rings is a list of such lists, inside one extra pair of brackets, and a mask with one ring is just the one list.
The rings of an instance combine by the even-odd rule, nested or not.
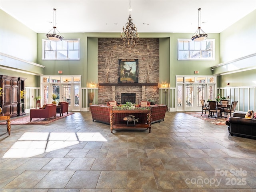
[[(151, 108), (151, 123), (156, 123), (164, 120), (164, 116), (166, 113), (167, 105), (152, 105)], [(104, 105), (90, 105), (90, 111), (92, 114), (92, 121), (102, 122), (106, 124), (110, 124), (110, 110), (111, 106)], [(131, 113), (132, 114), (132, 110)], [(118, 124), (126, 123), (124, 120), (120, 119), (120, 117), (115, 116), (115, 122)], [(144, 119), (139, 117), (141, 123), (146, 122), (146, 116)]]

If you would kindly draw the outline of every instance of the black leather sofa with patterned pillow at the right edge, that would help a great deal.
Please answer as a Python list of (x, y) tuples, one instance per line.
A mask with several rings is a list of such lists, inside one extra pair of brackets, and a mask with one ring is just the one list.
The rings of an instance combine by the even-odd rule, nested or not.
[[(256, 119), (246, 119), (246, 113), (233, 113), (228, 119), (230, 135), (239, 135), (256, 138)], [(227, 124), (227, 123), (226, 123)]]

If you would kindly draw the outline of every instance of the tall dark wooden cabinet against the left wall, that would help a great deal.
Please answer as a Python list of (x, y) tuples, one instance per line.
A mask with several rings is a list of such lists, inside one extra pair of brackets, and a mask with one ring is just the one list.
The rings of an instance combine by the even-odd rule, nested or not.
[(20, 91), (25, 88), (26, 78), (0, 75), (0, 87), (4, 93), (0, 97), (2, 113), (9, 113), (12, 117), (22, 116), (24, 111), (24, 99), (20, 98)]

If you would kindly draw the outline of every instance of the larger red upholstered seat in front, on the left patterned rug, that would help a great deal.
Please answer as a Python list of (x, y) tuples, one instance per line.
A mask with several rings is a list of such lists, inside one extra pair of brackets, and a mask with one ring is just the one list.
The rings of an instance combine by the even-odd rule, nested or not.
[(50, 117), (56, 118), (56, 105), (55, 104), (46, 104), (45, 108), (41, 109), (30, 109), (30, 121), (32, 118), (47, 118)]

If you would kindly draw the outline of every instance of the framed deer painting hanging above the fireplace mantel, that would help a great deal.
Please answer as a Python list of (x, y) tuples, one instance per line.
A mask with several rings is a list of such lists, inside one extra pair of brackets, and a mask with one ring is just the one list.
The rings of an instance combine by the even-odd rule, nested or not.
[(138, 59), (118, 59), (118, 83), (138, 83)]

